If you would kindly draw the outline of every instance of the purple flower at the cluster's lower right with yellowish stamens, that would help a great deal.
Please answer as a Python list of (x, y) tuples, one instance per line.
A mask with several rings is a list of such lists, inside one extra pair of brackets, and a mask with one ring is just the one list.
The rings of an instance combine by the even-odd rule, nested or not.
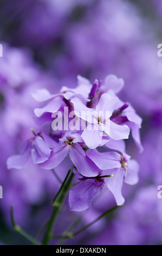
[(87, 156), (102, 170), (111, 169), (113, 178), (108, 179), (107, 187), (113, 193), (116, 204), (122, 205), (125, 202), (121, 189), (123, 181), (129, 185), (138, 182), (139, 164), (130, 160), (130, 156), (122, 153), (106, 152), (99, 153), (96, 149), (89, 149)]

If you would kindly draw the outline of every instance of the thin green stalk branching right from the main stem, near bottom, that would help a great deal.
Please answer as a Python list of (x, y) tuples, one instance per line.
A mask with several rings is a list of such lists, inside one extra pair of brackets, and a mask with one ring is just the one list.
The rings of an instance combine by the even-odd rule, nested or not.
[(67, 235), (51, 235), (51, 238), (53, 239), (66, 239), (66, 238), (73, 238), (74, 236), (80, 234), (83, 230), (89, 228), (91, 225), (93, 225), (95, 222), (99, 221), (101, 218), (105, 217), (106, 215), (110, 214), (112, 211), (114, 211), (115, 209), (118, 209), (121, 205), (116, 205), (114, 208), (104, 212), (102, 215), (100, 215), (98, 218), (96, 218), (96, 220), (90, 222), (88, 225), (86, 225), (85, 227), (77, 230), (75, 233), (69, 233)]

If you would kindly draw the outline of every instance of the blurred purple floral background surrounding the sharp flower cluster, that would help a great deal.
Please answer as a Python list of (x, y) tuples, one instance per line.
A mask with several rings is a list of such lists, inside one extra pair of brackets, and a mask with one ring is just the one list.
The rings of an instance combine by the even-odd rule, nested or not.
[[(50, 201), (59, 182), (50, 170), (30, 160), (22, 170), (8, 170), (7, 158), (20, 152), (24, 141), (47, 130), (35, 124), (38, 88), (59, 92), (75, 87), (76, 76), (103, 80), (108, 74), (124, 78), (120, 93), (142, 117), (139, 154), (130, 140), (127, 153), (140, 164), (139, 184), (124, 185), (126, 203), (72, 240), (61, 245), (161, 245), (162, 199), (162, 43), (161, 0), (1, 0), (0, 43), (0, 244), (29, 244), (11, 226), (10, 205), (16, 222), (31, 235), (47, 221)], [(70, 162), (56, 168), (63, 179)], [(115, 205), (107, 190), (85, 212), (70, 212), (66, 200), (55, 233), (80, 228)], [(70, 225), (70, 227), (69, 227)]]

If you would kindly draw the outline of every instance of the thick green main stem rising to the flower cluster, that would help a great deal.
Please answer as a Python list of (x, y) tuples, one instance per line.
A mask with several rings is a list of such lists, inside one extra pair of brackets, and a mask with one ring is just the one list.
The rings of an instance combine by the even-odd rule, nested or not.
[[(72, 169), (69, 170), (69, 172), (68, 172), (68, 174), (67, 174), (67, 176), (65, 178), (66, 181), (68, 179), (68, 176), (69, 176), (69, 173), (71, 172), (71, 170)], [(61, 188), (59, 190), (60, 192), (57, 193), (58, 196), (56, 195), (57, 197), (60, 196), (59, 199), (57, 200), (57, 202), (55, 202), (55, 199), (53, 200), (53, 202), (55, 202), (55, 208), (53, 210), (53, 213), (52, 213), (51, 218), (50, 218), (49, 223), (48, 223), (48, 229), (47, 229), (46, 236), (44, 237), (44, 240), (43, 240), (43, 245), (48, 245), (48, 243), (49, 243), (49, 241), (51, 239), (51, 230), (53, 229), (53, 225), (54, 225), (56, 216), (57, 216), (58, 212), (60, 211), (63, 199), (64, 199), (64, 197), (67, 194), (67, 191), (69, 189), (70, 183), (72, 182), (73, 176), (74, 176), (74, 174), (72, 172), (71, 175), (69, 176), (69, 179), (68, 179), (67, 183), (64, 180), (65, 181), (65, 182), (63, 182), (64, 186), (61, 186)]]

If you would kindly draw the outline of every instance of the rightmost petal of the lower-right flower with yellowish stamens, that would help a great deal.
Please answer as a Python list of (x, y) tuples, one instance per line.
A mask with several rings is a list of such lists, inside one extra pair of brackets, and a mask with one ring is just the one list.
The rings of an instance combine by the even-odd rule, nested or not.
[(124, 182), (129, 184), (129, 185), (137, 184), (138, 181), (139, 181), (138, 172), (139, 172), (138, 162), (133, 160), (133, 159), (130, 160), (129, 163), (128, 163), (128, 167), (127, 167)]

